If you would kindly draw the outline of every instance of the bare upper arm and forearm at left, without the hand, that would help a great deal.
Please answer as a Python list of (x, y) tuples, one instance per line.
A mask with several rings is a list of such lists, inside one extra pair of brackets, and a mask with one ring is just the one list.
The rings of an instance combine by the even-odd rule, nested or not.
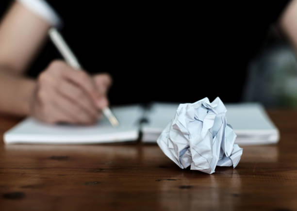
[(13, 3), (0, 23), (0, 112), (30, 113), (36, 82), (23, 76), (47, 37), (49, 24)]

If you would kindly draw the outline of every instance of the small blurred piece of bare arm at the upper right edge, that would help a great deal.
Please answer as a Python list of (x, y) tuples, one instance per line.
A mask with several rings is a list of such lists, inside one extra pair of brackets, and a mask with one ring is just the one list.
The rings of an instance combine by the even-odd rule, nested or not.
[(297, 0), (292, 0), (280, 18), (281, 29), (297, 51)]

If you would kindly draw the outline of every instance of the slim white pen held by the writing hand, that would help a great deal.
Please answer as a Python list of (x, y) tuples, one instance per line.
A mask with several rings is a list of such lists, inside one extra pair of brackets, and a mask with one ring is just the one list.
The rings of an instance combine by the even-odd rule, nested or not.
[[(75, 55), (63, 39), (62, 35), (58, 32), (56, 28), (49, 29), (49, 37), (53, 44), (56, 46), (56, 48), (60, 51), (68, 65), (77, 70), (82, 69), (82, 66), (79, 64), (77, 58), (75, 57)], [(115, 127), (119, 125), (119, 122), (115, 118), (115, 115), (111, 112), (111, 110), (108, 107), (102, 109), (102, 112), (107, 117), (112, 126)]]

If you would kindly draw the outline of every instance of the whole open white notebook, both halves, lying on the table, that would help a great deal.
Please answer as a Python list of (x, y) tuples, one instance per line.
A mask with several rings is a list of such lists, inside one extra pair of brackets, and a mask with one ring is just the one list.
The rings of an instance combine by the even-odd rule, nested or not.
[[(114, 107), (120, 126), (113, 128), (107, 119), (94, 126), (48, 125), (28, 117), (4, 133), (4, 142), (41, 144), (92, 144), (135, 141), (156, 143), (162, 130), (174, 117), (178, 104), (153, 103)], [(226, 105), (227, 122), (237, 134), (240, 145), (271, 144), (279, 140), (279, 131), (256, 103)], [(142, 137), (139, 137), (142, 134)]]

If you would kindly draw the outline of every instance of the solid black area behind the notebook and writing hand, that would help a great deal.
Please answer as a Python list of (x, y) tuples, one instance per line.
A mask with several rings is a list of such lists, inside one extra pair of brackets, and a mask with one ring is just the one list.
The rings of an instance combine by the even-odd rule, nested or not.
[[(10, 2), (0, 1), (1, 14)], [(240, 101), (248, 62), (287, 3), (48, 2), (82, 66), (113, 77), (111, 104)], [(56, 58), (47, 42), (27, 74), (36, 77)]]

